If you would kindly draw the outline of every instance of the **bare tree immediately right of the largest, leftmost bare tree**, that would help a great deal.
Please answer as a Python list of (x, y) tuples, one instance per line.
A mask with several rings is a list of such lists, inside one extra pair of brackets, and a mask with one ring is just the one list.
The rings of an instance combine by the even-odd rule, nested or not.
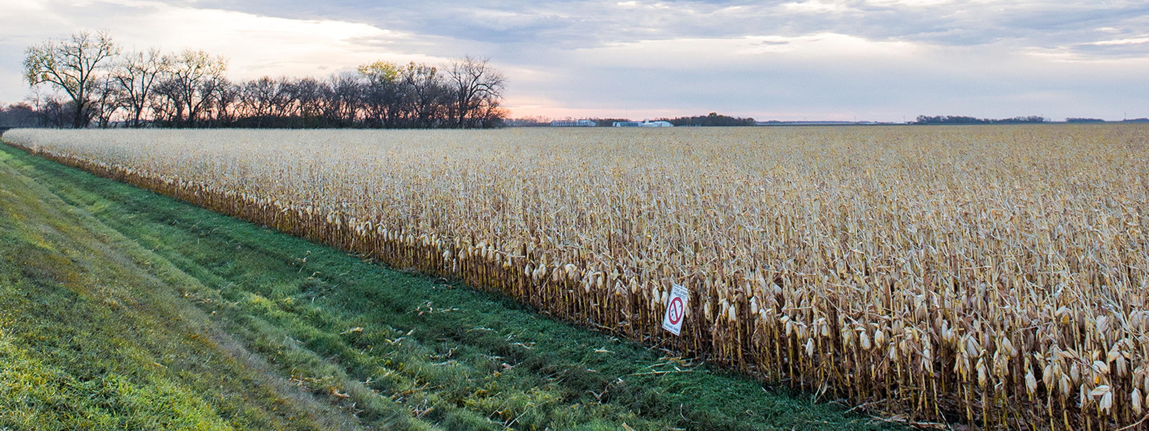
[(140, 118), (152, 100), (152, 90), (168, 71), (169, 60), (156, 48), (134, 51), (124, 55), (113, 69), (111, 77), (119, 85), (131, 126), (140, 126)]

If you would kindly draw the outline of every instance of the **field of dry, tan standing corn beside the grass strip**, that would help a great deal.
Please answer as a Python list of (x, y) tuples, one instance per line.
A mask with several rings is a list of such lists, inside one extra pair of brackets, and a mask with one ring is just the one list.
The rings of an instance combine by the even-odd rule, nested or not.
[(870, 411), (1149, 429), (1149, 128), (5, 139)]

